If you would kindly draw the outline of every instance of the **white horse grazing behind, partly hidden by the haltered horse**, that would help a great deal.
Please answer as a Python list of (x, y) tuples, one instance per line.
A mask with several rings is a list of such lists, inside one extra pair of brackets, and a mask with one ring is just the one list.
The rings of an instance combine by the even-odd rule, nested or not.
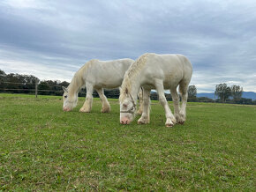
[[(64, 111), (71, 111), (78, 103), (78, 94), (81, 88), (87, 88), (87, 97), (80, 112), (90, 112), (93, 105), (93, 92), (96, 90), (102, 100), (102, 113), (110, 111), (109, 102), (104, 95), (103, 88), (113, 89), (122, 84), (125, 71), (134, 62), (132, 59), (114, 61), (91, 60), (82, 66), (72, 78), (71, 84), (64, 89)], [(140, 105), (142, 107), (142, 105)], [(142, 112), (142, 108), (140, 108)], [(138, 112), (141, 114), (141, 112)]]

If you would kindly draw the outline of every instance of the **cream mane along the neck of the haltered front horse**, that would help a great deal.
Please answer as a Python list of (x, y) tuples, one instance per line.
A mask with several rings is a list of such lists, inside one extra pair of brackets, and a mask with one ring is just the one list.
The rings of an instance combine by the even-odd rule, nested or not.
[(149, 54), (144, 54), (139, 56), (129, 69), (125, 72), (123, 84), (121, 85), (121, 92), (119, 100), (122, 102), (125, 99), (127, 93), (131, 93), (132, 81), (139, 75), (139, 72), (143, 69), (147, 62), (147, 57)]

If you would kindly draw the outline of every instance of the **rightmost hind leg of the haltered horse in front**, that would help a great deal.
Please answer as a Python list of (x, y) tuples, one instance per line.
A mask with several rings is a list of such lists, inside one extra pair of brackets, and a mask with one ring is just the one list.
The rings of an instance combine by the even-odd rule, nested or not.
[(179, 92), (181, 93), (181, 100), (182, 100), (182, 104), (181, 104), (181, 108), (179, 111), (179, 120), (178, 122), (180, 124), (183, 124), (185, 122), (186, 119), (186, 112), (185, 112), (185, 108), (186, 108), (186, 103), (187, 103), (187, 97), (188, 97), (188, 85), (189, 82), (185, 82), (182, 81), (179, 84)]

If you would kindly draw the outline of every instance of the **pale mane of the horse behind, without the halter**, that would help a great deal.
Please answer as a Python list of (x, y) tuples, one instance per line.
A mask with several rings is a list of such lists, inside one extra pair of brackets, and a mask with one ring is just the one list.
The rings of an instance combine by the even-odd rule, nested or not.
[(93, 59), (85, 63), (74, 75), (72, 82), (68, 86), (69, 95), (72, 97), (75, 93), (79, 92), (80, 88), (85, 85), (85, 79), (83, 78), (84, 74), (87, 71), (87, 68), (90, 67), (93, 63), (98, 62), (97, 59)]

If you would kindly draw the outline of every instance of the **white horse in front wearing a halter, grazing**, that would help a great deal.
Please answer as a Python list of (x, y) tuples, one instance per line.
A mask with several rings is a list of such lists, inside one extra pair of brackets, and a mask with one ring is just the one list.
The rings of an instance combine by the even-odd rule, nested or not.
[[(164, 107), (167, 127), (185, 121), (185, 107), (187, 89), (192, 78), (192, 64), (184, 55), (156, 55), (145, 54), (132, 63), (124, 75), (119, 97), (120, 123), (129, 124), (134, 118), (139, 87), (143, 87), (143, 112), (138, 120), (139, 124), (149, 123), (149, 105), (151, 89), (156, 89), (159, 100)], [(177, 85), (182, 96), (179, 107)], [(169, 89), (173, 104), (174, 115), (169, 109), (164, 90)]]

